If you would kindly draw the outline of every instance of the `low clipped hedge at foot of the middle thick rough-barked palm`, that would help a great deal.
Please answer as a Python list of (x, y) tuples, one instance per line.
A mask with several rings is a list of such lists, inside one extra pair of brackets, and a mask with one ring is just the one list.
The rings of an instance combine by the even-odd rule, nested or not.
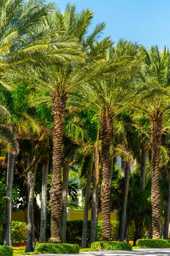
[[(91, 249), (100, 249), (101, 242), (94, 242), (91, 244)], [(105, 242), (103, 241), (104, 250), (132, 250), (132, 246), (126, 242)]]

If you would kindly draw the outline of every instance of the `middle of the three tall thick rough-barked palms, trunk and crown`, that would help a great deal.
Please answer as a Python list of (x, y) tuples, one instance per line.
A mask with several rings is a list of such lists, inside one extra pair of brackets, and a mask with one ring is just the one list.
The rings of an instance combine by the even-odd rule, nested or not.
[[(111, 61), (125, 61), (129, 58), (129, 64), (124, 66), (124, 72), (117, 76), (116, 70), (110, 76), (110, 79), (98, 79), (95, 83), (85, 84), (74, 93), (79, 98), (77, 101), (73, 98), (70, 104), (73, 106), (86, 107), (92, 109), (100, 115), (101, 131), (100, 138), (102, 143), (102, 237), (103, 240), (111, 240), (111, 201), (110, 201), (110, 180), (109, 180), (109, 159), (111, 137), (113, 134), (114, 117), (122, 111), (120, 103), (122, 101), (121, 93), (127, 92), (127, 84), (131, 80), (127, 72), (129, 65), (139, 65), (138, 54), (139, 45), (128, 41), (120, 40), (116, 46), (111, 49)], [(108, 54), (107, 54), (108, 55)], [(132, 62), (131, 62), (132, 61)], [(133, 61), (137, 61), (136, 64)], [(108, 61), (106, 61), (107, 63)], [(121, 70), (120, 70), (121, 71)], [(119, 71), (119, 72), (120, 72)], [(81, 99), (81, 102), (79, 101)]]

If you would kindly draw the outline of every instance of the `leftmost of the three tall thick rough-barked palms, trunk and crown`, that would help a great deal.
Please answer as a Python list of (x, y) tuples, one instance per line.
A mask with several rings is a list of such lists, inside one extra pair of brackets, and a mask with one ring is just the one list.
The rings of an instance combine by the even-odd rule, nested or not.
[[(49, 100), (52, 100), (54, 157), (51, 184), (51, 242), (61, 241), (61, 150), (68, 95), (87, 82), (108, 76), (114, 71), (128, 69), (131, 66), (129, 59), (122, 60), (117, 58), (116, 60), (105, 62), (105, 50), (111, 46), (111, 42), (108, 38), (105, 38), (101, 42), (94, 43), (105, 25), (103, 23), (97, 25), (94, 32), (86, 38), (93, 12), (86, 10), (79, 15), (75, 15), (75, 13), (75, 6), (68, 4), (64, 14), (59, 11), (55, 12), (54, 17), (57, 20), (55, 24), (60, 29), (62, 27), (62, 31), (66, 35), (74, 35), (81, 40), (81, 44), (84, 46), (84, 54), (88, 54), (88, 61), (85, 61), (84, 64), (75, 64), (73, 61), (60, 63), (60, 65), (58, 63), (56, 65), (51, 64), (51, 66), (45, 66), (42, 72), (37, 69), (27, 73), (27, 77), (34, 82), (34, 85), (41, 88), (41, 91), (48, 92), (48, 95), (39, 97), (39, 100), (34, 99), (34, 105), (39, 105), (40, 102), (46, 102), (49, 105)], [(68, 27), (69, 18), (72, 22), (69, 23), (70, 26)], [(81, 26), (80, 23), (82, 23)], [(79, 29), (80, 27), (81, 29)], [(77, 50), (79, 51), (79, 48)], [(29, 82), (31, 82), (30, 80)]]

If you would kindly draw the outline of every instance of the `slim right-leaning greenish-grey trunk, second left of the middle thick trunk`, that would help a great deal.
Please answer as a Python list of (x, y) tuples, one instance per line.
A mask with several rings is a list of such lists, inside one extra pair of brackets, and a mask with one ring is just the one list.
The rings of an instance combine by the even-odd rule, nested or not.
[(89, 197), (91, 189), (91, 175), (93, 169), (93, 157), (94, 153), (91, 154), (90, 164), (87, 175), (87, 183), (85, 188), (85, 208), (84, 208), (84, 217), (83, 217), (83, 227), (82, 227), (82, 248), (87, 247), (87, 233), (88, 233), (88, 206), (89, 206)]

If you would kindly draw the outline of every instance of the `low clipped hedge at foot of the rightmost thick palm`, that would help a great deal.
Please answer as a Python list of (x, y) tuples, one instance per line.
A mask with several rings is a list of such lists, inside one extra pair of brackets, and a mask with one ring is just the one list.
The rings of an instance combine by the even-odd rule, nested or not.
[(144, 246), (147, 248), (170, 248), (170, 240), (168, 239), (138, 239), (136, 246)]

